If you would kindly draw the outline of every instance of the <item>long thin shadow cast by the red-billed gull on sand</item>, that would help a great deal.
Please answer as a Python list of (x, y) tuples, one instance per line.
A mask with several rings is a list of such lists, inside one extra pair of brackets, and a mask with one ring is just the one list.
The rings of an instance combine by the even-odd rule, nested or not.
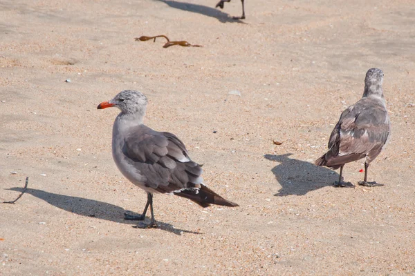
[[(8, 190), (22, 192), (23, 188), (15, 187)], [(120, 206), (93, 199), (84, 199), (82, 197), (72, 197), (68, 195), (58, 195), (54, 193), (48, 193), (44, 190), (31, 188), (26, 190), (26, 194), (30, 194), (39, 199), (43, 199), (50, 205), (77, 215), (82, 215), (84, 217), (93, 217), (95, 219), (104, 219), (108, 221), (118, 222), (120, 224), (137, 224), (137, 221), (124, 220), (124, 213), (129, 213), (129, 215), (140, 215), (131, 210), (125, 210)], [(176, 235), (181, 235), (182, 233), (201, 234), (199, 232), (174, 228), (172, 224), (166, 224), (160, 221), (157, 221), (157, 224), (158, 229), (165, 230)]]

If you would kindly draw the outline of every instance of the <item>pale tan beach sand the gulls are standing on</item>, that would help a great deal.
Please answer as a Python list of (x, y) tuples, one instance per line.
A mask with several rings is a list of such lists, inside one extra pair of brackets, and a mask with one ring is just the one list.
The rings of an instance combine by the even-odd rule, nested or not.
[[(414, 275), (413, 1), (247, 0), (244, 21), (216, 1), (0, 2), (0, 199), (30, 178), (0, 204), (0, 275)], [(133, 39), (156, 34), (203, 48)], [(313, 160), (373, 67), (392, 135), (369, 181), (385, 186), (334, 188)], [(156, 195), (159, 229), (122, 219), (147, 197), (113, 163), (118, 110), (96, 106), (124, 89), (241, 207)]]

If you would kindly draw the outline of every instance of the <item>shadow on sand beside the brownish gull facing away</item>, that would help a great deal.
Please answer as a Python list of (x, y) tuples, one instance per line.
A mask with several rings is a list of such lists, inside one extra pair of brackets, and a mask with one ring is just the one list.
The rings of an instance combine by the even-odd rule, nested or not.
[(315, 166), (307, 161), (288, 158), (290, 155), (292, 154), (264, 155), (268, 160), (279, 162), (271, 169), (282, 186), (275, 196), (306, 195), (312, 190), (333, 186), (334, 181), (339, 178), (339, 174), (334, 170)]

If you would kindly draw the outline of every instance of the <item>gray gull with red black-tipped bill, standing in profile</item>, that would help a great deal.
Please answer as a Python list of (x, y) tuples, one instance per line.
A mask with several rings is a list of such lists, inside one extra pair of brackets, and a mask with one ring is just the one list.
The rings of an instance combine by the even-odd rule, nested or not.
[(157, 227), (153, 212), (154, 193), (185, 197), (202, 207), (210, 204), (239, 206), (203, 184), (201, 165), (190, 159), (185, 145), (176, 135), (158, 132), (142, 124), (147, 108), (145, 95), (124, 90), (110, 101), (100, 103), (98, 109), (113, 106), (121, 110), (113, 125), (113, 159), (124, 177), (147, 192), (142, 215), (124, 214), (124, 219), (144, 220), (150, 206), (151, 223), (139, 223), (136, 227)]

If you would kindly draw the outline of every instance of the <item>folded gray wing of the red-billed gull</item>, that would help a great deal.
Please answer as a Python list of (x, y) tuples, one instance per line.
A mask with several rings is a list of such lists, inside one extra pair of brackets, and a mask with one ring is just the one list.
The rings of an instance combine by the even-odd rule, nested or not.
[(138, 126), (124, 139), (124, 156), (139, 170), (145, 184), (160, 193), (199, 188), (202, 169), (187, 154), (176, 135)]

